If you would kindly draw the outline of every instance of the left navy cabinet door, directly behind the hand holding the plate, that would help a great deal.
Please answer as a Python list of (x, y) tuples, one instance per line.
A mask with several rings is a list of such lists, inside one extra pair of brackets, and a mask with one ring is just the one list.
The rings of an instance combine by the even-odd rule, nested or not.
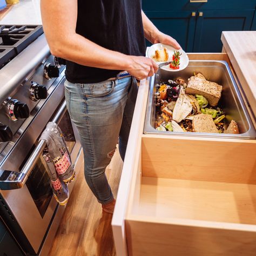
[(196, 11), (149, 11), (145, 14), (161, 32), (175, 38), (185, 51), (193, 50)]

